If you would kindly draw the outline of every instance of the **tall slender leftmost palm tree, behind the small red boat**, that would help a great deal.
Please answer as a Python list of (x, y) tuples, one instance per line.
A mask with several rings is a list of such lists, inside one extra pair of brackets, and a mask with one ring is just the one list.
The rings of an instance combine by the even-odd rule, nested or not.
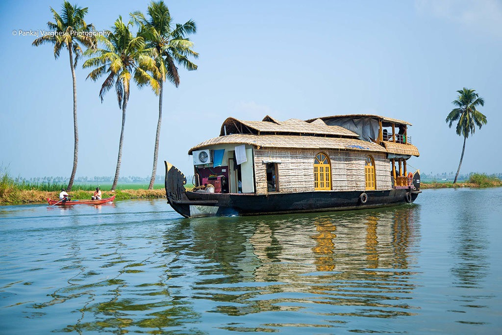
[(61, 14), (58, 14), (52, 7), (50, 8), (55, 22), (48, 22), (49, 30), (53, 34), (44, 35), (33, 41), (32, 45), (38, 47), (41, 44), (49, 43), (54, 45), (54, 57), (57, 59), (61, 49), (68, 49), (70, 56), (70, 69), (73, 79), (73, 130), (74, 130), (74, 150), (73, 150), (73, 169), (71, 171), (70, 181), (67, 190), (71, 191), (73, 180), (77, 172), (78, 160), (78, 127), (77, 127), (77, 79), (75, 76), (75, 66), (80, 55), (82, 55), (81, 45), (87, 48), (95, 48), (96, 39), (83, 32), (91, 32), (94, 27), (92, 24), (86, 24), (84, 16), (87, 14), (87, 7), (81, 8), (72, 6), (69, 2), (63, 3)]

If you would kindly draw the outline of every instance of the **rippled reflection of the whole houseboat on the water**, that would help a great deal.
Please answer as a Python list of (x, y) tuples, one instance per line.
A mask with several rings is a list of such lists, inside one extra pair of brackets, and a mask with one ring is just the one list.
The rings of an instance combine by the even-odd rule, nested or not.
[(313, 303), (325, 305), (318, 308), (335, 318), (348, 311), (410, 315), (418, 214), (416, 206), (401, 206), (235, 218), (232, 225), (228, 219), (195, 219), (193, 250), (204, 253), (208, 264), (218, 264), (218, 272), (198, 285), (215, 285), (209, 299), (229, 315), (312, 308)]

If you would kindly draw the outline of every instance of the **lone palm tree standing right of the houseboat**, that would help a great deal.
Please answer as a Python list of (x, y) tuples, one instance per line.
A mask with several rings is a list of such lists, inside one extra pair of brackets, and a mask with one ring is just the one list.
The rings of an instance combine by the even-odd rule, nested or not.
[(449, 122), (449, 127), (453, 124), (453, 121), (457, 121), (457, 135), (464, 137), (464, 145), (462, 147), (462, 155), (460, 155), (460, 163), (458, 164), (457, 174), (455, 175), (455, 180), (453, 183), (457, 182), (458, 174), (460, 173), (460, 166), (462, 165), (462, 159), (464, 158), (465, 151), (465, 140), (469, 137), (469, 134), (474, 135), (476, 126), (481, 129), (483, 125), (486, 125), (486, 117), (481, 114), (476, 106), (484, 106), (483, 98), (479, 97), (475, 93), (474, 89), (463, 88), (457, 91), (458, 98), (453, 100), (452, 103), (457, 106), (450, 111), (450, 114), (446, 117), (446, 123)]

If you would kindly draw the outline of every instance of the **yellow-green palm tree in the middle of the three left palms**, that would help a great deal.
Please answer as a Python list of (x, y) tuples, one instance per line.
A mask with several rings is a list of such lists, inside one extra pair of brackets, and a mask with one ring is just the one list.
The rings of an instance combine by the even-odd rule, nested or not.
[[(117, 94), (118, 107), (122, 109), (122, 128), (118, 144), (117, 167), (111, 190), (114, 191), (120, 172), (120, 162), (122, 159), (122, 144), (124, 136), (124, 126), (126, 125), (126, 108), (129, 101), (131, 79), (134, 78), (140, 86), (150, 85), (156, 94), (159, 93), (159, 82), (148, 72), (159, 76), (155, 61), (150, 57), (152, 50), (146, 49), (145, 39), (138, 34), (134, 37), (130, 28), (133, 22), (127, 24), (119, 17), (107, 37), (99, 36), (98, 41), (103, 45), (96, 50), (89, 49), (86, 54), (97, 55), (88, 59), (83, 67), (95, 67), (87, 78), (93, 81), (98, 80), (104, 74), (106, 79), (101, 85), (99, 97), (103, 101), (104, 94), (113, 86)], [(134, 77), (132, 74), (134, 73)]]

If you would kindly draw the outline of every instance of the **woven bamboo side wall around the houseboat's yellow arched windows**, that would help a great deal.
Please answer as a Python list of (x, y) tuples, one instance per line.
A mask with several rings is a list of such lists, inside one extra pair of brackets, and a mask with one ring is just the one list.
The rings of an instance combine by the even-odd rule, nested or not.
[[(364, 190), (365, 152), (323, 151), (331, 160), (332, 190)], [(314, 158), (317, 150), (255, 150), (255, 175), (258, 193), (267, 193), (266, 164), (264, 161), (280, 161), (278, 164), (279, 190), (281, 192), (314, 191)], [(391, 188), (389, 160), (385, 154), (371, 153), (375, 162), (376, 189)]]

